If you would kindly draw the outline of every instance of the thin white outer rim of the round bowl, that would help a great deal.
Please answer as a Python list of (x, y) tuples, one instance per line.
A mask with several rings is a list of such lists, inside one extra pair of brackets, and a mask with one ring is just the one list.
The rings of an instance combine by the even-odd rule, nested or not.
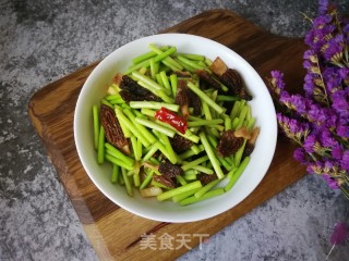
[[(75, 111), (74, 111), (74, 122), (73, 122), (73, 130), (74, 130), (74, 142), (75, 142), (75, 147), (76, 147), (76, 151), (79, 154), (79, 159), (84, 167), (84, 171), (86, 172), (86, 174), (88, 175), (88, 177), (91, 178), (91, 181), (93, 182), (93, 184), (98, 188), (98, 190), (106, 196), (107, 198), (109, 198), (113, 203), (118, 204), (119, 207), (121, 207), (122, 209), (136, 214), (139, 216), (148, 219), (148, 220), (154, 220), (154, 221), (159, 221), (159, 222), (171, 222), (171, 223), (183, 223), (183, 222), (195, 222), (195, 221), (201, 221), (201, 220), (205, 220), (205, 219), (209, 219), (213, 216), (216, 216), (218, 214), (221, 214), (226, 211), (228, 211), (229, 209), (236, 207), (238, 203), (240, 203), (242, 200), (244, 200), (249, 195), (251, 195), (253, 192), (253, 190), (260, 185), (260, 183), (262, 182), (262, 179), (264, 178), (265, 174), (267, 173), (267, 170), (269, 169), (269, 165), (272, 163), (272, 160), (274, 158), (275, 154), (275, 150), (276, 150), (276, 142), (277, 142), (277, 122), (276, 122), (276, 112), (275, 112), (275, 108), (272, 101), (272, 98), (268, 96), (266, 97), (267, 100), (269, 100), (268, 105), (270, 107), (270, 104), (273, 105), (273, 108), (269, 108), (269, 110), (272, 110), (273, 114), (273, 119), (270, 119), (270, 130), (273, 132), (272, 135), (269, 136), (269, 140), (268, 140), (268, 145), (270, 146), (269, 154), (267, 157), (267, 159), (265, 159), (264, 161), (266, 161), (266, 163), (264, 162), (263, 165), (263, 174), (257, 176), (257, 179), (254, 181), (253, 186), (250, 187), (248, 192), (244, 192), (240, 198), (238, 198), (236, 200), (236, 203), (232, 206), (226, 206), (224, 208), (220, 208), (220, 211), (217, 212), (210, 212), (210, 211), (206, 211), (206, 214), (202, 215), (202, 216), (197, 216), (197, 215), (176, 215), (176, 216), (170, 216), (170, 215), (159, 215), (158, 213), (149, 213), (149, 212), (140, 212), (137, 211), (137, 209), (134, 209), (125, 203), (123, 203), (122, 201), (120, 201), (118, 198), (113, 197), (113, 195), (110, 195), (105, 188), (104, 185), (98, 182), (95, 177), (95, 175), (93, 173), (91, 173), (91, 169), (88, 167), (88, 164), (86, 163), (86, 159), (85, 159), (85, 153), (84, 153), (84, 148), (82, 146), (82, 138), (79, 132), (81, 132), (81, 126), (80, 126), (80, 122), (79, 122), (79, 117), (81, 115), (81, 113), (83, 113), (83, 109), (82, 109), (82, 103), (84, 102), (84, 98), (86, 97), (86, 95), (88, 94), (88, 86), (91, 85), (91, 83), (93, 83), (94, 77), (97, 77), (98, 74), (100, 73), (100, 71), (103, 71), (103, 66), (105, 66), (104, 64), (106, 63), (106, 61), (110, 60), (113, 58), (113, 55), (117, 55), (116, 53), (120, 50), (123, 50), (132, 45), (135, 44), (140, 44), (143, 41), (156, 41), (157, 39), (160, 38), (169, 38), (169, 39), (173, 39), (173, 37), (177, 40), (195, 40), (195, 41), (200, 41), (200, 42), (207, 42), (207, 45), (213, 45), (216, 48), (220, 48), (222, 49), (224, 52), (228, 52), (233, 54), (236, 58), (238, 58), (239, 60), (243, 61), (245, 64), (245, 66), (249, 69), (249, 71), (251, 71), (253, 73), (253, 76), (255, 76), (256, 78), (258, 78), (258, 85), (262, 84), (263, 88), (266, 88), (263, 79), (261, 78), (261, 76), (258, 75), (258, 73), (252, 67), (252, 65), (244, 60), (241, 55), (239, 55), (237, 52), (234, 52), (233, 50), (231, 50), (230, 48), (228, 48), (227, 46), (224, 46), (222, 44), (219, 44), (213, 39), (208, 39), (202, 36), (196, 36), (196, 35), (190, 35), (190, 34), (182, 34), (182, 33), (166, 33), (166, 34), (156, 34), (156, 35), (151, 35), (151, 36), (146, 36), (146, 37), (142, 37), (139, 39), (135, 39), (133, 41), (130, 41), (119, 48), (117, 48), (115, 51), (112, 51), (111, 53), (109, 53), (105, 59), (103, 59), (97, 66), (93, 70), (93, 72), (88, 75), (86, 82), (84, 83), (81, 92), (79, 95), (77, 101), (76, 101), (76, 105), (75, 105)], [(168, 40), (170, 42), (170, 40)], [(170, 45), (170, 44), (169, 44)], [(180, 50), (179, 50), (180, 51)], [(130, 59), (131, 60), (131, 59)], [(264, 91), (265, 92), (265, 91)], [(268, 94), (268, 92), (267, 92)], [(251, 164), (251, 162), (250, 162)], [(108, 181), (110, 182), (110, 181)], [(124, 192), (125, 194), (125, 192)], [(227, 194), (226, 194), (227, 197)], [(207, 201), (207, 200), (206, 200)], [(164, 203), (164, 202), (159, 202), (159, 203)], [(183, 207), (181, 207), (183, 208)], [(201, 212), (202, 214), (202, 212)]]

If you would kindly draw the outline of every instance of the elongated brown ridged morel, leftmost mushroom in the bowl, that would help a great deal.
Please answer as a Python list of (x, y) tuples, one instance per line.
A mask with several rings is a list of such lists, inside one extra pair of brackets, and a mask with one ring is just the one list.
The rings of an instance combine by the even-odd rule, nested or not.
[(129, 140), (124, 137), (115, 111), (108, 105), (100, 105), (100, 123), (105, 129), (106, 139), (112, 146), (129, 153)]

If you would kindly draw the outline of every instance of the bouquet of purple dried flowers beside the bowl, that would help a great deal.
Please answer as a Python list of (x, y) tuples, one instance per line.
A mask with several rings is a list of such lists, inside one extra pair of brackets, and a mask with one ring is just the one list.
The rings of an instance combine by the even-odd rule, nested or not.
[(349, 199), (349, 20), (327, 0), (320, 0), (316, 18), (309, 20), (304, 94), (288, 92), (279, 71), (270, 73), (269, 90), (279, 127), (299, 145), (296, 160)]

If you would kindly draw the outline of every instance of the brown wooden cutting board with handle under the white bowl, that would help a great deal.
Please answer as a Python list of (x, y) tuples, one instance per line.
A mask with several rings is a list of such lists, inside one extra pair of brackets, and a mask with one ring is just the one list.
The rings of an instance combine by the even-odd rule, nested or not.
[[(288, 86), (302, 86), (302, 39), (275, 36), (226, 10), (210, 10), (161, 33), (186, 33), (221, 42), (238, 52), (263, 79), (285, 72)], [(98, 62), (38, 90), (28, 111), (72, 204), (101, 260), (172, 260), (232, 223), (305, 174), (293, 147), (279, 137), (275, 158), (258, 187), (233, 209), (208, 220), (170, 224), (131, 214), (107, 199), (85, 173), (74, 145), (73, 115), (80, 90)], [(293, 90), (293, 89), (292, 89)], [(298, 89), (299, 90), (299, 89)], [(153, 245), (144, 239), (149, 237)], [(167, 239), (170, 244), (165, 246)], [(154, 245), (155, 244), (155, 245)], [(161, 249), (165, 248), (165, 249)], [(171, 249), (172, 248), (172, 249)]]

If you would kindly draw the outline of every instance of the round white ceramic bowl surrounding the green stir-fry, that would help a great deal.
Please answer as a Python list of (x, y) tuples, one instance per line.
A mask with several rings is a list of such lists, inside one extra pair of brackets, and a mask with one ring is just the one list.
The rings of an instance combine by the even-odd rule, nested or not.
[[(148, 44), (176, 46), (179, 52), (204, 54), (214, 60), (220, 57), (225, 63), (242, 75), (253, 100), (252, 114), (261, 134), (251, 161), (229, 192), (194, 204), (180, 207), (171, 201), (158, 202), (156, 198), (142, 198), (135, 192), (129, 197), (124, 187), (110, 183), (109, 164), (98, 165), (93, 142), (92, 105), (106, 95), (108, 85), (117, 72), (124, 72), (130, 60), (148, 51)], [(93, 183), (116, 204), (140, 216), (163, 222), (193, 222), (220, 214), (248, 197), (264, 177), (274, 157), (277, 140), (275, 109), (268, 90), (255, 70), (229, 48), (198, 36), (163, 34), (144, 37), (127, 44), (104, 59), (88, 76), (77, 99), (74, 114), (74, 138), (80, 160)]]

